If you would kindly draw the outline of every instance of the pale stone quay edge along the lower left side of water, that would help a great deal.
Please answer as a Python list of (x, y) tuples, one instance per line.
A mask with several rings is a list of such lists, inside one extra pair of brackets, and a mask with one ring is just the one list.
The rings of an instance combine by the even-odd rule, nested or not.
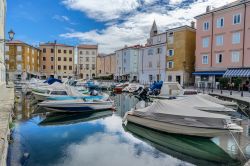
[(0, 165), (6, 166), (8, 135), (14, 108), (14, 88), (0, 85)]

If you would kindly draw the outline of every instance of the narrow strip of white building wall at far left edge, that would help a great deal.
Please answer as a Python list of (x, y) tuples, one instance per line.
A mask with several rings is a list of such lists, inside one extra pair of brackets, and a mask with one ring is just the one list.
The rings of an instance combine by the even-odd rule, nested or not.
[(0, 85), (5, 83), (6, 69), (4, 59), (4, 39), (5, 39), (5, 18), (6, 18), (6, 0), (0, 0)]

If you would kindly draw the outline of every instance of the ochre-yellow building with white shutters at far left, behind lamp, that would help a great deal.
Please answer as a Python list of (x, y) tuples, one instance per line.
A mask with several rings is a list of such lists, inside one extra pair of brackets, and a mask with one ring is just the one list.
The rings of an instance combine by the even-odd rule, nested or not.
[(18, 40), (6, 43), (5, 59), (9, 80), (39, 76), (40, 49)]

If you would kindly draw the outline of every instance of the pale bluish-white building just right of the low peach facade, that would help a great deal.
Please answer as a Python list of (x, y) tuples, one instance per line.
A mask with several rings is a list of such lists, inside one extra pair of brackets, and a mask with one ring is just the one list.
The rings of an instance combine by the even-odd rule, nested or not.
[(138, 81), (139, 49), (140, 45), (125, 46), (116, 53), (116, 80)]

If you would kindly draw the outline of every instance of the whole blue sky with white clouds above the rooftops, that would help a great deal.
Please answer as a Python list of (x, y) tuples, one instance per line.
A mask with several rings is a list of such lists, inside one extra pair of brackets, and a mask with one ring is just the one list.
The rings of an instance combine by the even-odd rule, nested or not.
[(234, 0), (7, 0), (6, 33), (31, 45), (98, 44), (100, 53), (146, 43), (153, 21), (158, 31), (190, 25), (207, 6)]

